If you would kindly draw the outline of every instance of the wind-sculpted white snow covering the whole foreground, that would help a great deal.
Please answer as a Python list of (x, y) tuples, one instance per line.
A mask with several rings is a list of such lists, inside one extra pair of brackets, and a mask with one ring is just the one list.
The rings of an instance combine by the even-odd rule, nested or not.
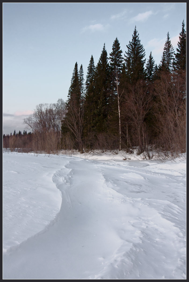
[(131, 155), (4, 153), (3, 279), (186, 279), (186, 160)]

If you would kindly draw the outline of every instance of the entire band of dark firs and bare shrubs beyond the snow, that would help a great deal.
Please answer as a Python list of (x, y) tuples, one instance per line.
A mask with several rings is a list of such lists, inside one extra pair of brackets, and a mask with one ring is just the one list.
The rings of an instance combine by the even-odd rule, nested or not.
[(97, 65), (93, 56), (86, 82), (76, 62), (68, 99), (37, 105), (24, 119), (24, 131), (3, 135), (3, 147), (22, 151), (81, 153), (124, 149), (152, 157), (186, 152), (186, 30), (184, 20), (176, 52), (169, 32), (159, 65), (152, 52), (146, 62), (136, 26), (123, 54), (118, 38), (108, 56), (105, 48)]

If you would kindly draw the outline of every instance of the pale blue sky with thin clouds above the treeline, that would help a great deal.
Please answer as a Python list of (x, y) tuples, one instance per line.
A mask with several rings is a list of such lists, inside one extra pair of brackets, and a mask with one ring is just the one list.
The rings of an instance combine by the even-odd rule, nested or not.
[(3, 3), (3, 133), (26, 130), (40, 103), (67, 100), (75, 63), (84, 78), (116, 37), (124, 56), (135, 29), (157, 65), (169, 32), (176, 51), (186, 3)]

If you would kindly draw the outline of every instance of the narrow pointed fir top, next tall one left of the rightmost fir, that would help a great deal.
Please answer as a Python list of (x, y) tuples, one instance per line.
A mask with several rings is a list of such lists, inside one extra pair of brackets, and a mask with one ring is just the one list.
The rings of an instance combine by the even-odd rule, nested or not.
[(172, 71), (172, 63), (174, 59), (174, 49), (172, 47), (169, 32), (167, 33), (167, 40), (163, 49), (163, 55), (161, 57), (161, 62), (159, 64), (159, 70), (164, 72)]

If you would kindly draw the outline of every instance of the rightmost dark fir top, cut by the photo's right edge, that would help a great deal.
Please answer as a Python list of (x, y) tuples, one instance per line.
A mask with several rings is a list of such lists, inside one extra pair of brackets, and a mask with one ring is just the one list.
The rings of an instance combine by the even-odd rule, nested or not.
[(176, 48), (177, 53), (174, 53), (175, 60), (173, 62), (174, 70), (186, 70), (186, 30), (184, 20), (182, 22), (182, 31), (180, 32), (179, 42)]

